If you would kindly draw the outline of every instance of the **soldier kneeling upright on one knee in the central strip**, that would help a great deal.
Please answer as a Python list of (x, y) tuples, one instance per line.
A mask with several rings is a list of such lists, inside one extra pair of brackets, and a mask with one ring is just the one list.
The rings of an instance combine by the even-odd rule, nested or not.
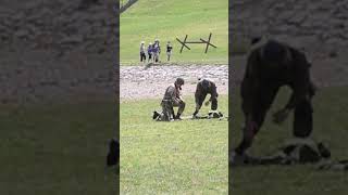
[[(181, 115), (185, 109), (185, 102), (181, 96), (182, 86), (184, 86), (184, 79), (177, 78), (174, 86), (166, 88), (163, 100), (161, 102), (162, 113), (154, 112), (153, 119), (160, 121), (172, 121), (174, 119), (181, 120)], [(178, 107), (177, 114), (174, 113), (174, 107)]]

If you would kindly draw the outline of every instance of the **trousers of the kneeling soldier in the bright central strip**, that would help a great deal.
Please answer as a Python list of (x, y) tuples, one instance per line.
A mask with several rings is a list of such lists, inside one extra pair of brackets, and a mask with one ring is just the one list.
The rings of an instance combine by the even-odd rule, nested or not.
[(184, 101), (179, 101), (179, 102), (162, 101), (161, 106), (162, 106), (161, 120), (169, 121), (174, 119), (174, 116), (175, 116), (174, 107), (178, 107), (177, 115), (181, 115), (185, 110), (186, 104)]

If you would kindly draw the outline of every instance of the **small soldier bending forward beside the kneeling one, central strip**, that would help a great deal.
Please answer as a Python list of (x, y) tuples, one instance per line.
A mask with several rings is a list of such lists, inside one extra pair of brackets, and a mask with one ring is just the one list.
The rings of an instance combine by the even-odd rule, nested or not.
[(197, 83), (195, 92), (196, 110), (194, 113), (194, 118), (197, 117), (199, 109), (201, 108), (207, 94), (210, 94), (209, 101), (206, 102), (206, 106), (211, 103), (211, 110), (217, 109), (217, 91), (216, 84), (208, 79), (202, 79)]

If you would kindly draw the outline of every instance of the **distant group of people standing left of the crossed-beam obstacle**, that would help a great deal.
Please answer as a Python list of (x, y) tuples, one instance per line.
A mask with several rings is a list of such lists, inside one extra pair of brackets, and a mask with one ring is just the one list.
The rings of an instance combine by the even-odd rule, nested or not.
[[(166, 43), (166, 56), (167, 61), (171, 60), (173, 47), (171, 41)], [(160, 54), (161, 54), (161, 46), (159, 39), (154, 40), (154, 43), (149, 42), (149, 46), (146, 48), (145, 41), (140, 42), (140, 62), (146, 63), (146, 54), (148, 55), (148, 62), (161, 62)]]

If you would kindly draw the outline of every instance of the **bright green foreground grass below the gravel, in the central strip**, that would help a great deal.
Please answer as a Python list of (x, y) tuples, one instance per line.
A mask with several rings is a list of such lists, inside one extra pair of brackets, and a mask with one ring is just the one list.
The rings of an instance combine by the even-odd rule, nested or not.
[[(227, 115), (227, 96), (219, 101)], [(159, 103), (121, 104), (121, 194), (226, 194), (227, 120), (152, 121)], [(194, 100), (186, 103), (189, 116)]]

